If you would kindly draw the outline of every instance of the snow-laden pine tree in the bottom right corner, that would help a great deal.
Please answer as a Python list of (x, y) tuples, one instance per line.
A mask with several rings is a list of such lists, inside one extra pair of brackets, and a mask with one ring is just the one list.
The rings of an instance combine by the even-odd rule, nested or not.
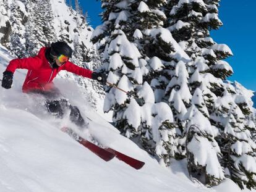
[(234, 102), (234, 96), (228, 92), (216, 100), (214, 109), (214, 119), (220, 119), (216, 120), (219, 122), (218, 127), (221, 127), (218, 143), (226, 177), (231, 178), (240, 188), (255, 188), (256, 144), (247, 129), (255, 127), (254, 123), (245, 119), (245, 115)]

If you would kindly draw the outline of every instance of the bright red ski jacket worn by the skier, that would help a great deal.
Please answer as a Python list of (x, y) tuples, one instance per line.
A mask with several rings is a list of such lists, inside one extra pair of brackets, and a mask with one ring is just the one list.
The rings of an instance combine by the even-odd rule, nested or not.
[(60, 70), (81, 75), (83, 77), (92, 78), (92, 71), (83, 69), (72, 62), (67, 61), (58, 68), (51, 68), (45, 57), (47, 48), (41, 48), (38, 55), (25, 59), (13, 59), (7, 66), (8, 71), (14, 73), (16, 69), (28, 69), (27, 77), (22, 86), (23, 92), (27, 93), (32, 90), (49, 91), (54, 88), (53, 79)]

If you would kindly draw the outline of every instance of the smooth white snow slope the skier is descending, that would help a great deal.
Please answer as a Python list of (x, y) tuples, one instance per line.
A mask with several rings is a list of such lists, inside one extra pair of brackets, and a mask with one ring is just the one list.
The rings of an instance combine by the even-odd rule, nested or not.
[[(0, 71), (11, 59), (0, 47)], [(63, 79), (54, 81), (70, 103), (79, 106), (83, 117), (89, 117), (92, 135), (110, 146), (146, 164), (135, 170), (118, 159), (105, 162), (62, 133), (62, 125), (74, 127), (67, 118), (61, 121), (49, 116), (43, 99), (21, 92), (26, 70), (17, 70), (11, 90), (0, 88), (0, 191), (240, 191), (231, 180), (216, 188), (192, 183), (184, 161), (161, 167), (147, 152), (106, 122), (84, 101), (75, 84)]]

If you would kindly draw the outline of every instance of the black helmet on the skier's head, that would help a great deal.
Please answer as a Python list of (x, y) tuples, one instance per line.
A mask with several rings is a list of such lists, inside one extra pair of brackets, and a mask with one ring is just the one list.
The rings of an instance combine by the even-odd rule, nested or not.
[(61, 54), (67, 57), (72, 57), (72, 49), (62, 41), (57, 41), (51, 44), (51, 56), (60, 56)]

